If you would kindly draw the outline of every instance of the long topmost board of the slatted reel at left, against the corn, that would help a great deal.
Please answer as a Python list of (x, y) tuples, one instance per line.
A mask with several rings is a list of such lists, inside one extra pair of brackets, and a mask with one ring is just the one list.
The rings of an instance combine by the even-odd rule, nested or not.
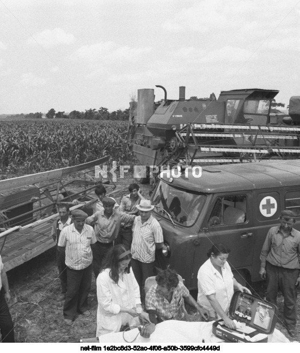
[(109, 159), (109, 156), (106, 156), (106, 157), (97, 159), (95, 161), (83, 163), (80, 165), (74, 165), (74, 166), (70, 166), (70, 167), (49, 170), (46, 172), (41, 172), (41, 173), (36, 173), (36, 174), (24, 175), (24, 176), (18, 177), (18, 178), (1, 180), (0, 181), (0, 192), (14, 190), (16, 188), (21, 188), (21, 187), (28, 186), (31, 184), (46, 182), (51, 179), (56, 179), (56, 178), (60, 179), (61, 177), (65, 176), (65, 175), (72, 174), (72, 173), (75, 173), (80, 170), (88, 169), (94, 165), (100, 165), (104, 162), (107, 162), (108, 159)]

